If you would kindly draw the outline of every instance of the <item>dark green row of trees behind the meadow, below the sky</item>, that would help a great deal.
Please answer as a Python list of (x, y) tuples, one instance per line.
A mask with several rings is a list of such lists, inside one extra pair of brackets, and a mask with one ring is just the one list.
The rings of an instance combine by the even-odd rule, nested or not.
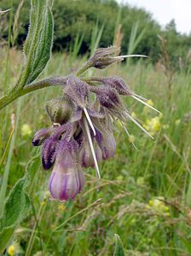
[[(13, 1), (14, 14), (19, 3), (20, 0)], [(10, 7), (10, 1), (1, 0), (0, 8), (9, 9)], [(29, 9), (30, 1), (26, 0), (20, 11), (18, 37), (15, 42), (20, 47), (26, 38)], [(138, 22), (137, 35), (145, 30), (141, 42), (135, 49), (136, 54), (149, 55), (152, 57), (152, 61), (158, 61), (160, 50), (158, 35), (168, 40), (167, 48), (173, 61), (178, 61), (180, 57), (185, 59), (190, 49), (191, 35), (178, 33), (174, 20), (171, 20), (165, 29), (162, 29), (146, 10), (132, 8), (128, 4), (119, 6), (114, 0), (56, 0), (53, 14), (55, 19), (55, 50), (68, 51), (71, 44), (74, 44), (75, 39), (79, 36), (83, 38), (80, 53), (90, 51), (95, 26), (99, 28), (104, 26), (99, 46), (107, 47), (113, 44), (116, 20), (119, 20), (119, 24), (122, 25), (122, 54), (126, 54), (128, 51), (130, 31), (136, 22)], [(7, 15), (7, 19), (9, 19), (9, 15)], [(1, 24), (1, 35), (3, 38), (8, 38), (9, 26), (4, 26), (3, 20), (1, 20)]]

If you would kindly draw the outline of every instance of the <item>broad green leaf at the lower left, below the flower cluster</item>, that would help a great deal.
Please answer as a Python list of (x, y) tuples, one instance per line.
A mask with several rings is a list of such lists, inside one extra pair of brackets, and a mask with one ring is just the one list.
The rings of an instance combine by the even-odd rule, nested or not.
[(0, 218), (0, 253), (3, 253), (16, 226), (26, 217), (30, 207), (28, 191), (32, 188), (32, 181), (39, 166), (39, 157), (35, 157), (28, 166), (25, 177), (14, 185), (5, 202), (3, 215)]

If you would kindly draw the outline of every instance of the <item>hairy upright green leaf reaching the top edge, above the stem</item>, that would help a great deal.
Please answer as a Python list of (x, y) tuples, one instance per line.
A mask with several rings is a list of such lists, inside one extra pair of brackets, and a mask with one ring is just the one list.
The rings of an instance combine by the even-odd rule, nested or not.
[(49, 61), (53, 43), (53, 16), (49, 0), (32, 0), (30, 27), (24, 44), (26, 67), (21, 84), (32, 83)]

